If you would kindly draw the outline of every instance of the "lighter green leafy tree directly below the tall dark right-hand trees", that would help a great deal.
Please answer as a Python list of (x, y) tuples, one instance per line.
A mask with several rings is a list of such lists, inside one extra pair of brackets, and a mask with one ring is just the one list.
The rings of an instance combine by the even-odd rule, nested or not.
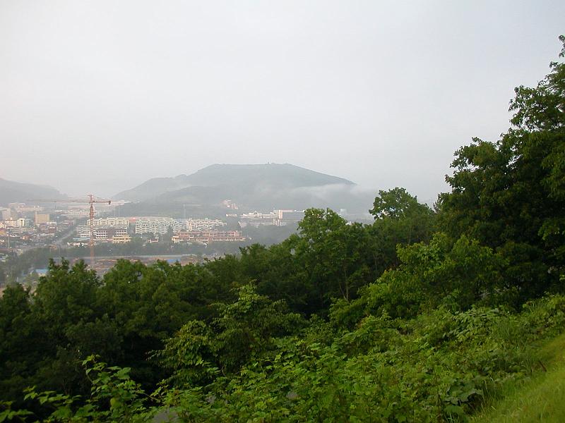
[(502, 277), (503, 257), (465, 235), (452, 243), (436, 233), (428, 244), (399, 246), (398, 257), (398, 268), (367, 286), (358, 300), (337, 303), (333, 321), (351, 327), (352, 319), (369, 312), (407, 318), (440, 304), (468, 309), (477, 302), (499, 302), (501, 293), (512, 292)]

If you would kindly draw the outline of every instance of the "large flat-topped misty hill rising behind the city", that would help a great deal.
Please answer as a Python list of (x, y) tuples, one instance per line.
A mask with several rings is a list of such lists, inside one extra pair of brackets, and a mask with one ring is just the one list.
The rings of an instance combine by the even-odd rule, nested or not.
[(355, 186), (350, 180), (292, 164), (213, 164), (188, 176), (150, 179), (114, 198), (202, 206), (218, 206), (229, 199), (242, 209), (347, 208), (352, 204), (355, 209), (369, 208), (371, 203), (359, 198)]

